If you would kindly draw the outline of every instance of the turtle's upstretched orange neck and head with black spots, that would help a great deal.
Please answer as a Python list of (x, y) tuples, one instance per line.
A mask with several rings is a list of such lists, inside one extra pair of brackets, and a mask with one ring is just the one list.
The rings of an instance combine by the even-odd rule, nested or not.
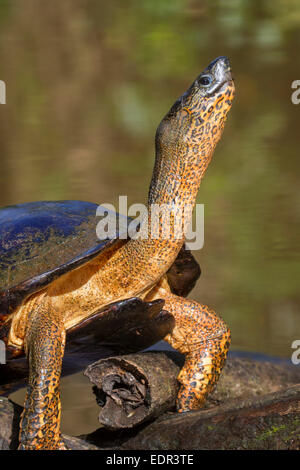
[[(218, 65), (218, 64), (217, 64)], [(184, 242), (184, 236), (175, 236), (176, 208), (187, 207), (184, 214), (192, 217), (200, 182), (219, 141), (227, 113), (231, 107), (234, 87), (226, 64), (219, 63), (219, 82), (213, 93), (204, 93), (197, 80), (173, 105), (160, 123), (156, 133), (156, 160), (149, 197), (148, 214), (141, 226), (146, 233), (140, 238), (131, 238), (117, 250), (100, 256), (99, 266), (93, 274), (92, 306), (89, 298), (87, 309), (93, 310), (101, 303), (138, 295), (143, 297), (171, 267)], [(212, 70), (212, 73), (215, 73)], [(217, 75), (217, 73), (216, 73)], [(171, 211), (170, 233), (164, 237), (165, 216), (159, 219), (158, 234), (153, 236), (153, 204), (174, 205)], [(147, 223), (148, 222), (148, 223)], [(183, 224), (183, 218), (181, 224)], [(154, 224), (155, 226), (155, 224)], [(184, 235), (184, 233), (183, 233)], [(74, 277), (74, 276), (73, 276)], [(105, 286), (105, 288), (104, 288)], [(99, 299), (95, 293), (99, 293)], [(105, 296), (103, 294), (105, 292)], [(74, 299), (74, 293), (72, 294)], [(83, 293), (84, 302), (86, 295)], [(82, 310), (84, 308), (82, 306)]]

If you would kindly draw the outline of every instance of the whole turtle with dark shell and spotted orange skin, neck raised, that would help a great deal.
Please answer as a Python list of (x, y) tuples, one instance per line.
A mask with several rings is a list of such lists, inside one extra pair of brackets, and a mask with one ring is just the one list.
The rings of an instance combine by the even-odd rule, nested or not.
[[(29, 369), (19, 449), (66, 448), (62, 360), (69, 342), (83, 336), (98, 336), (112, 353), (163, 338), (185, 356), (178, 412), (204, 406), (226, 361), (230, 329), (214, 310), (186, 298), (199, 270), (176, 227), (192, 217), (233, 98), (230, 62), (221, 56), (162, 119), (147, 211), (133, 236), (123, 236), (123, 216), (112, 211), (106, 215), (118, 228), (99, 237), (98, 206), (90, 202), (40, 201), (0, 210), (0, 339), (8, 362), (25, 355)], [(158, 232), (151, 231), (157, 207), (168, 208), (168, 236), (166, 214), (158, 218)]]

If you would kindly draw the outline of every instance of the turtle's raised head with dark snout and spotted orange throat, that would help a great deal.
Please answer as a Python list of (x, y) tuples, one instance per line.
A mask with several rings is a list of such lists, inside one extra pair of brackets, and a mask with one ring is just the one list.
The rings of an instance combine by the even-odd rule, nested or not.
[(156, 154), (165, 160), (165, 167), (180, 160), (181, 168), (192, 165), (194, 175), (203, 176), (233, 96), (229, 60), (218, 57), (174, 103), (156, 131)]

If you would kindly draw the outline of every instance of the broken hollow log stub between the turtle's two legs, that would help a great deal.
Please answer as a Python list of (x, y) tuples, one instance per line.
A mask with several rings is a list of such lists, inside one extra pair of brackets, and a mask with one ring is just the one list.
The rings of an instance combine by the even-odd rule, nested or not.
[(146, 352), (101, 359), (84, 372), (95, 385), (99, 422), (128, 429), (174, 408), (180, 367), (167, 354)]

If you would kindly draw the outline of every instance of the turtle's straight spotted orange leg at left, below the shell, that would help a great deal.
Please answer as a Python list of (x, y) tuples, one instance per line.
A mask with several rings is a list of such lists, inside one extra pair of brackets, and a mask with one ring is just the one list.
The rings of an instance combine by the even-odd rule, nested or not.
[(59, 382), (66, 335), (60, 316), (42, 308), (29, 317), (25, 338), (29, 379), (19, 434), (23, 450), (64, 448)]

